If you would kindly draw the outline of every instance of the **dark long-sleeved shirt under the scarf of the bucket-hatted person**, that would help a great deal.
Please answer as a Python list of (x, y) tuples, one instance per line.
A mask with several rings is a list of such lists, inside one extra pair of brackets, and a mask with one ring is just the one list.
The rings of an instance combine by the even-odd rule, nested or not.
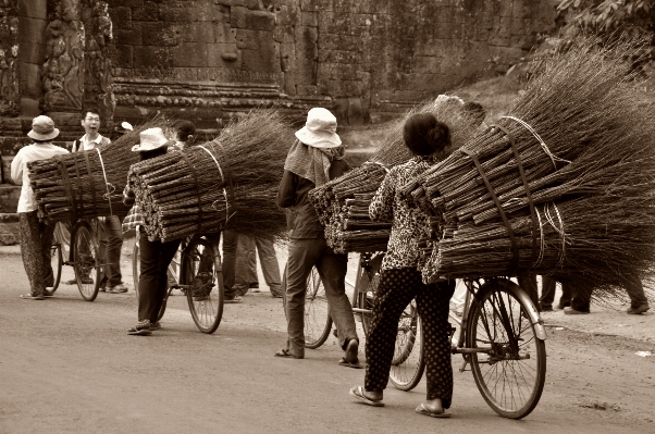
[[(348, 169), (348, 163), (344, 160), (334, 160), (330, 165), (330, 179), (343, 175)], [(282, 175), (277, 191), (277, 206), (287, 209), (286, 223), (291, 238), (324, 237), (319, 215), (307, 197), (307, 194), (314, 187), (311, 181), (293, 172), (284, 171)]]

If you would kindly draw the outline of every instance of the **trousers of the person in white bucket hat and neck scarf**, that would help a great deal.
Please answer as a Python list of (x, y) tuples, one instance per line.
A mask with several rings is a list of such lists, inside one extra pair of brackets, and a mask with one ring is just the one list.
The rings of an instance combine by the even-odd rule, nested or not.
[(324, 238), (292, 238), (286, 264), (284, 305), (287, 321), (287, 348), (296, 356), (305, 355), (305, 297), (307, 278), (316, 265), (325, 288), (330, 317), (336, 325), (339, 345), (346, 348), (357, 339), (353, 307), (346, 295), (348, 256), (335, 253)]

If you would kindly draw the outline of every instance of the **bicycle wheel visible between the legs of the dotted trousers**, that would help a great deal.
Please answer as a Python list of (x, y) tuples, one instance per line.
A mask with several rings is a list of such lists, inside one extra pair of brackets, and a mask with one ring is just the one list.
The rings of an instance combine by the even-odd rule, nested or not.
[(398, 321), (398, 334), (388, 379), (397, 389), (407, 392), (419, 384), (424, 370), (423, 330), (416, 301), (411, 300)]

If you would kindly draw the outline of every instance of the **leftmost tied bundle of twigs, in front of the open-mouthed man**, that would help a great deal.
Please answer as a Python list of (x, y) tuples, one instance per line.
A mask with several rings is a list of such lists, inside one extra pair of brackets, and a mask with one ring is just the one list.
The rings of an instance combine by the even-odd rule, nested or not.
[(110, 145), (27, 164), (29, 182), (38, 202), (39, 218), (72, 221), (106, 215), (125, 215), (122, 202), (129, 165), (139, 161), (132, 147), (139, 133), (165, 121), (156, 117)]

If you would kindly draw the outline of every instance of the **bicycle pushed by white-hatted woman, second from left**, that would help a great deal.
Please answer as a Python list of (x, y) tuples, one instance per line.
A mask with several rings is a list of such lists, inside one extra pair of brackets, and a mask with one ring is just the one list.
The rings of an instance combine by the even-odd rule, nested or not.
[[(139, 228), (134, 244), (132, 268), (134, 287), (138, 298)], [(211, 334), (219, 328), (223, 318), (223, 266), (219, 248), (220, 233), (194, 235), (181, 243), (178, 253), (169, 264), (169, 284), (157, 320), (166, 310), (173, 289), (182, 289), (187, 299), (194, 323), (202, 333)]]

